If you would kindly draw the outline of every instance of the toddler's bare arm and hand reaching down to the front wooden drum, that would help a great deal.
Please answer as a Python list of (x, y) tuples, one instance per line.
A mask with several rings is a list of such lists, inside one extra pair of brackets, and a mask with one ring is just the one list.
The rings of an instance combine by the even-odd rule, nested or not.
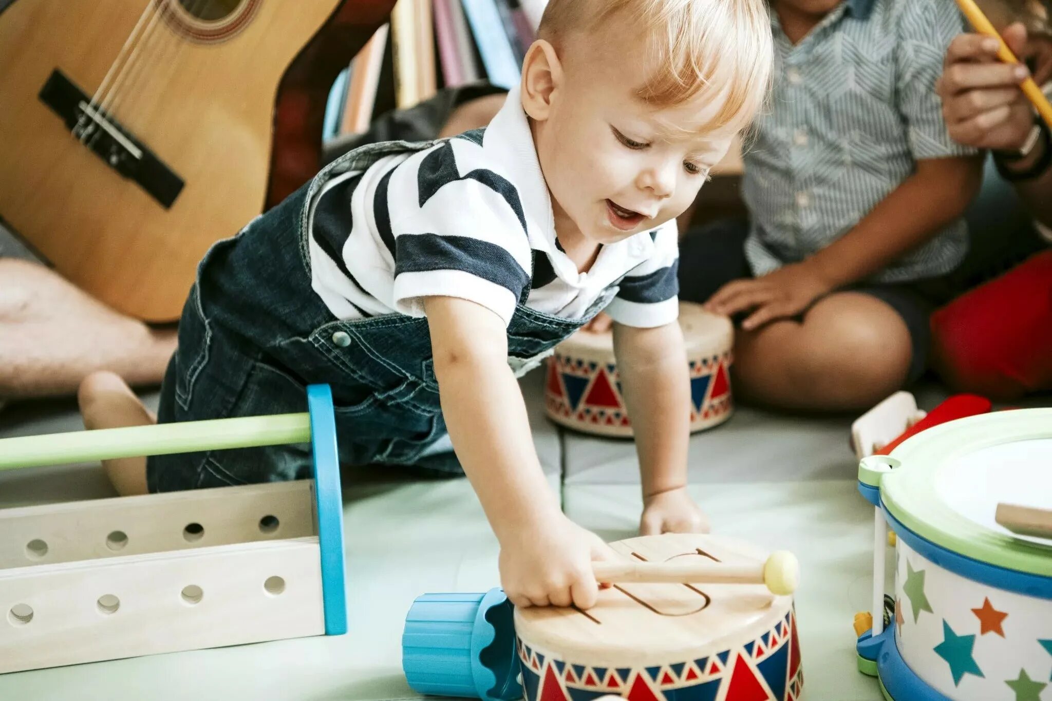
[(515, 605), (587, 609), (598, 536), (567, 519), (541, 470), (522, 392), (507, 362), (507, 331), (489, 309), (457, 297), (423, 301), (442, 415), (457, 456), (501, 543), (501, 579)]

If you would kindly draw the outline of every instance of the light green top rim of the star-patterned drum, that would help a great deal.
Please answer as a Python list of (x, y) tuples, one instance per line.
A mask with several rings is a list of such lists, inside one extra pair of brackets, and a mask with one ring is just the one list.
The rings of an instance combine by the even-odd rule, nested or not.
[(976, 523), (943, 500), (935, 479), (945, 463), (969, 453), (1037, 439), (1052, 439), (1052, 409), (1000, 411), (928, 429), (892, 451), (890, 457), (902, 467), (882, 477), (881, 499), (903, 525), (936, 545), (980, 562), (1052, 577), (1052, 543)]

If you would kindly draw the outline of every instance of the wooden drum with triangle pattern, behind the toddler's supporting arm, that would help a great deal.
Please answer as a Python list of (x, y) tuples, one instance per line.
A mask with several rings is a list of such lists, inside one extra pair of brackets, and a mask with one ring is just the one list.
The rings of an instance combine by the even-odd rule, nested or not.
[[(726, 421), (733, 411), (728, 371), (734, 330), (726, 317), (686, 302), (680, 303), (680, 326), (690, 369), (690, 430), (701, 431)], [(612, 333), (579, 331), (555, 348), (548, 360), (544, 404), (548, 417), (567, 428), (632, 435)]]

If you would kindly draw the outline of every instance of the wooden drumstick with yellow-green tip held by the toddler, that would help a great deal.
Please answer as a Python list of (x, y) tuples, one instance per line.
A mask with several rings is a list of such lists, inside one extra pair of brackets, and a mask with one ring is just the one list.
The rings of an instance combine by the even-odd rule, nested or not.
[(766, 562), (725, 563), (697, 558), (666, 562), (633, 560), (592, 563), (595, 579), (607, 584), (621, 582), (668, 582), (682, 584), (766, 584), (772, 594), (786, 596), (800, 583), (800, 562), (796, 556), (778, 551)]

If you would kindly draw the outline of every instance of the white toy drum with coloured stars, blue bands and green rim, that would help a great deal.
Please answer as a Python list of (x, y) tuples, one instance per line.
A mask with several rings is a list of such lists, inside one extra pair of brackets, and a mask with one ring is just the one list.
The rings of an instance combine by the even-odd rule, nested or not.
[(858, 490), (877, 509), (874, 602), (886, 523), (896, 536), (894, 615), (856, 627), (859, 669), (894, 701), (1048, 698), (1052, 539), (1005, 516), (1052, 508), (1052, 409), (928, 429), (864, 458)]

